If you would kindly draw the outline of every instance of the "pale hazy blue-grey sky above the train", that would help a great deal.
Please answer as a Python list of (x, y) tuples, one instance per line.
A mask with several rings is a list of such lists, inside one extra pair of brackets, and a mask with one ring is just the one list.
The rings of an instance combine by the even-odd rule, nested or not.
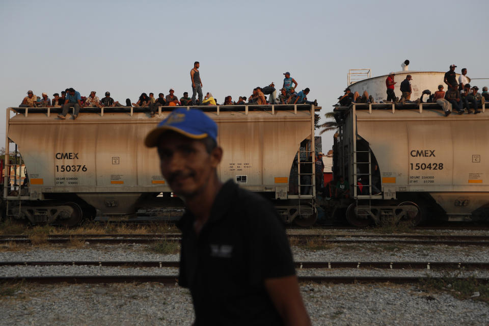
[[(204, 92), (219, 102), (256, 86), (282, 86), (290, 71), (309, 87), (321, 116), (343, 94), (348, 69), (489, 77), (484, 1), (10, 1), (0, 0), (0, 107), (68, 87), (115, 100), (142, 92), (192, 93), (201, 63)], [(481, 86), (489, 80), (480, 81)], [(0, 137), (5, 114), (0, 114)], [(323, 137), (323, 150), (332, 133)], [(0, 145), (3, 147), (3, 144)]]

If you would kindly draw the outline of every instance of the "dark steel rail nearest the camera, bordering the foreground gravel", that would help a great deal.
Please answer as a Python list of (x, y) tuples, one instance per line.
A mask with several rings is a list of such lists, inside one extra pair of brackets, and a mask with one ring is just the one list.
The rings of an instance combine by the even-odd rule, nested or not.
[[(425, 281), (452, 281), (452, 280), (471, 280), (481, 284), (489, 283), (489, 278), (439, 278), (439, 277), (391, 277), (391, 276), (299, 276), (299, 282), (313, 283), (422, 283)], [(128, 282), (158, 282), (163, 284), (177, 285), (176, 276), (157, 276), (157, 275), (135, 275), (135, 276), (33, 276), (33, 277), (0, 277), (0, 283), (22, 282), (22, 283), (41, 283), (41, 284), (100, 284), (100, 283), (128, 283)]]

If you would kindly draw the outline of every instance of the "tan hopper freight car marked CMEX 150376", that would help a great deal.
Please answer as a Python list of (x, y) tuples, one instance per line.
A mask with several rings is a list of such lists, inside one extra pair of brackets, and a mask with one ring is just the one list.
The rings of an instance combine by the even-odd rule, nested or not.
[[(304, 165), (314, 164), (314, 112), (320, 107), (200, 108), (219, 127), (218, 143), (224, 149), (219, 177), (274, 201), (286, 223), (314, 223), (314, 169), (305, 175)], [(8, 108), (7, 215), (33, 224), (72, 226), (84, 214), (98, 220), (141, 220), (151, 209), (182, 206), (159, 171), (156, 149), (143, 144), (148, 131), (170, 114), (167, 109), (160, 107), (157, 118), (151, 118), (145, 108), (84, 108), (76, 120), (60, 120), (60, 108)], [(23, 186), (12, 172), (20, 164), (9, 155), (13, 146), (29, 178)]]

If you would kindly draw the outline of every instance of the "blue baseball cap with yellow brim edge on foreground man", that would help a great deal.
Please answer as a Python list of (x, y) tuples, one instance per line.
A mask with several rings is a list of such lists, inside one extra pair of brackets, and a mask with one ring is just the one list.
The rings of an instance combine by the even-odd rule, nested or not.
[(218, 141), (218, 125), (205, 113), (197, 108), (177, 108), (146, 135), (144, 144), (147, 147), (158, 146), (161, 134), (170, 130), (192, 139), (211, 137)]

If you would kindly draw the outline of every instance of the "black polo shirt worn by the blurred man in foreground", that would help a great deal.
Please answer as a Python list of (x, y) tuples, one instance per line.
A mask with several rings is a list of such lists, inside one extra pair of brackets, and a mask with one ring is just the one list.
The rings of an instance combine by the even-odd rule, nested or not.
[(264, 280), (295, 275), (277, 211), (263, 197), (227, 181), (199, 236), (187, 211), (182, 230), (180, 286), (192, 293), (197, 325), (281, 325)]

